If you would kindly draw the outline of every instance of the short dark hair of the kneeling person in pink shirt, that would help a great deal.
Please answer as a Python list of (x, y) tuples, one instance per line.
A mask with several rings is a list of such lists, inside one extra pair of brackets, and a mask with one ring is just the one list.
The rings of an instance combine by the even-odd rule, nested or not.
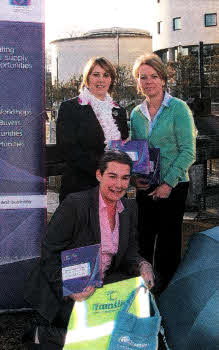
[(127, 153), (119, 150), (107, 150), (100, 158), (98, 164), (98, 169), (100, 170), (101, 175), (103, 175), (109, 162), (127, 164), (130, 167), (130, 173), (132, 171), (132, 160)]

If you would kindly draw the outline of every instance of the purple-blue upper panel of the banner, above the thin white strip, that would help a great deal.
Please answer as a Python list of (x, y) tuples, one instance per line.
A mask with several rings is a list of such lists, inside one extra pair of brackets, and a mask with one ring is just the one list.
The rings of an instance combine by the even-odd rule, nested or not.
[[(21, 192), (44, 193), (43, 25), (2, 21), (0, 31), (0, 192), (22, 187)], [(10, 189), (14, 182), (17, 188)]]

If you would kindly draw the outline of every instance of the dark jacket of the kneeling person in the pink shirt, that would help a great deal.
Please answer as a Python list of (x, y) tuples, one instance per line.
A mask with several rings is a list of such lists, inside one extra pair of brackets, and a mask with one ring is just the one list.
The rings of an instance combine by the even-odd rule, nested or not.
[[(133, 200), (122, 198), (124, 210), (119, 214), (119, 246), (110, 273), (138, 273), (143, 258), (136, 242), (137, 209)], [(63, 305), (62, 250), (100, 243), (99, 187), (72, 193), (53, 215), (42, 242), (41, 259), (32, 271), (25, 298), (45, 319), (52, 322)]]

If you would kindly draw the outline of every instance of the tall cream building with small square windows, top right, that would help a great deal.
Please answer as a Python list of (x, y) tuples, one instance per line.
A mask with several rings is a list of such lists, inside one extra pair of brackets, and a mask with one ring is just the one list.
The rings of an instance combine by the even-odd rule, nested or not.
[[(219, 50), (218, 0), (154, 0), (156, 29), (153, 51), (164, 60), (188, 54), (200, 41)], [(155, 28), (155, 27), (154, 27)]]

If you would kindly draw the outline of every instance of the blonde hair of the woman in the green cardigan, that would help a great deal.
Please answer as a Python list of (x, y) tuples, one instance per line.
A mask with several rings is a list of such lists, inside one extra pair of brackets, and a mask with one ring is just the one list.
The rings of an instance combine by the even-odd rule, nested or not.
[[(139, 69), (143, 64), (147, 64), (148, 66), (152, 67), (157, 72), (160, 79), (162, 79), (165, 82), (165, 87), (167, 86), (166, 68), (163, 62), (161, 61), (160, 57), (154, 53), (141, 55), (136, 59), (132, 69), (132, 75), (135, 78), (135, 80), (138, 79)], [(141, 92), (139, 86), (137, 86), (137, 90), (138, 92)]]

